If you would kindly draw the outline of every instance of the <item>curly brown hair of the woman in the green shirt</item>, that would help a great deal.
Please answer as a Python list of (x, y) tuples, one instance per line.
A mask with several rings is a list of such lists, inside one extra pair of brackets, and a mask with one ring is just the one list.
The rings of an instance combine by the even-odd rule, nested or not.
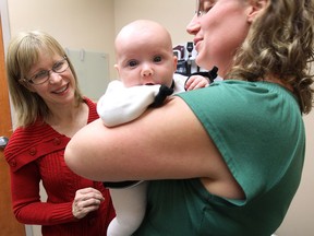
[(313, 107), (313, 0), (269, 0), (252, 24), (227, 78), (279, 78), (293, 87), (303, 114)]

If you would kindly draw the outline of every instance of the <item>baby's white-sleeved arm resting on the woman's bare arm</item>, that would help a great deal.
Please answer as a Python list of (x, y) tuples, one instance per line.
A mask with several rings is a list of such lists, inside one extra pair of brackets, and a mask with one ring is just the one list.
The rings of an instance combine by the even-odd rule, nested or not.
[(114, 127), (141, 116), (154, 103), (160, 85), (125, 87), (121, 81), (112, 81), (97, 103), (97, 113), (107, 127)]

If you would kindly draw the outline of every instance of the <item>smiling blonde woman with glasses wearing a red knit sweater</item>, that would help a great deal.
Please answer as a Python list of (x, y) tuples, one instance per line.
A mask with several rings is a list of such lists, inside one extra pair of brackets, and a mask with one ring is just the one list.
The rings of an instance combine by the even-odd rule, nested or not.
[[(7, 72), (17, 128), (4, 156), (17, 221), (43, 225), (44, 236), (106, 235), (114, 217), (108, 190), (64, 163), (72, 135), (98, 118), (64, 49), (46, 33), (21, 33), (9, 45)], [(40, 181), (47, 201), (40, 200)]]

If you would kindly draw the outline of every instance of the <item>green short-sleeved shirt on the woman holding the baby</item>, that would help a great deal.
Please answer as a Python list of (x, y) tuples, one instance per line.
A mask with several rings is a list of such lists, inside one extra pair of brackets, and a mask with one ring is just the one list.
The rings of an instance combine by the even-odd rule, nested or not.
[(178, 94), (242, 187), (245, 200), (210, 194), (200, 179), (149, 182), (136, 236), (271, 235), (299, 187), (305, 131), (298, 101), (280, 85), (229, 80)]

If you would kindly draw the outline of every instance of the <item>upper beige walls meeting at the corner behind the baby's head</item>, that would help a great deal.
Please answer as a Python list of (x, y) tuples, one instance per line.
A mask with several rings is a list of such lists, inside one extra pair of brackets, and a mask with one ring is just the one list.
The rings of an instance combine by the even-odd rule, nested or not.
[[(53, 35), (65, 48), (105, 51), (109, 54), (111, 78), (117, 76), (113, 69), (114, 36), (133, 20), (160, 22), (171, 33), (174, 45), (192, 38), (185, 33), (185, 26), (194, 12), (192, 0), (7, 1), (11, 35), (20, 31), (41, 30)], [(165, 5), (167, 11), (162, 10)], [(176, 15), (180, 15), (179, 21)]]

